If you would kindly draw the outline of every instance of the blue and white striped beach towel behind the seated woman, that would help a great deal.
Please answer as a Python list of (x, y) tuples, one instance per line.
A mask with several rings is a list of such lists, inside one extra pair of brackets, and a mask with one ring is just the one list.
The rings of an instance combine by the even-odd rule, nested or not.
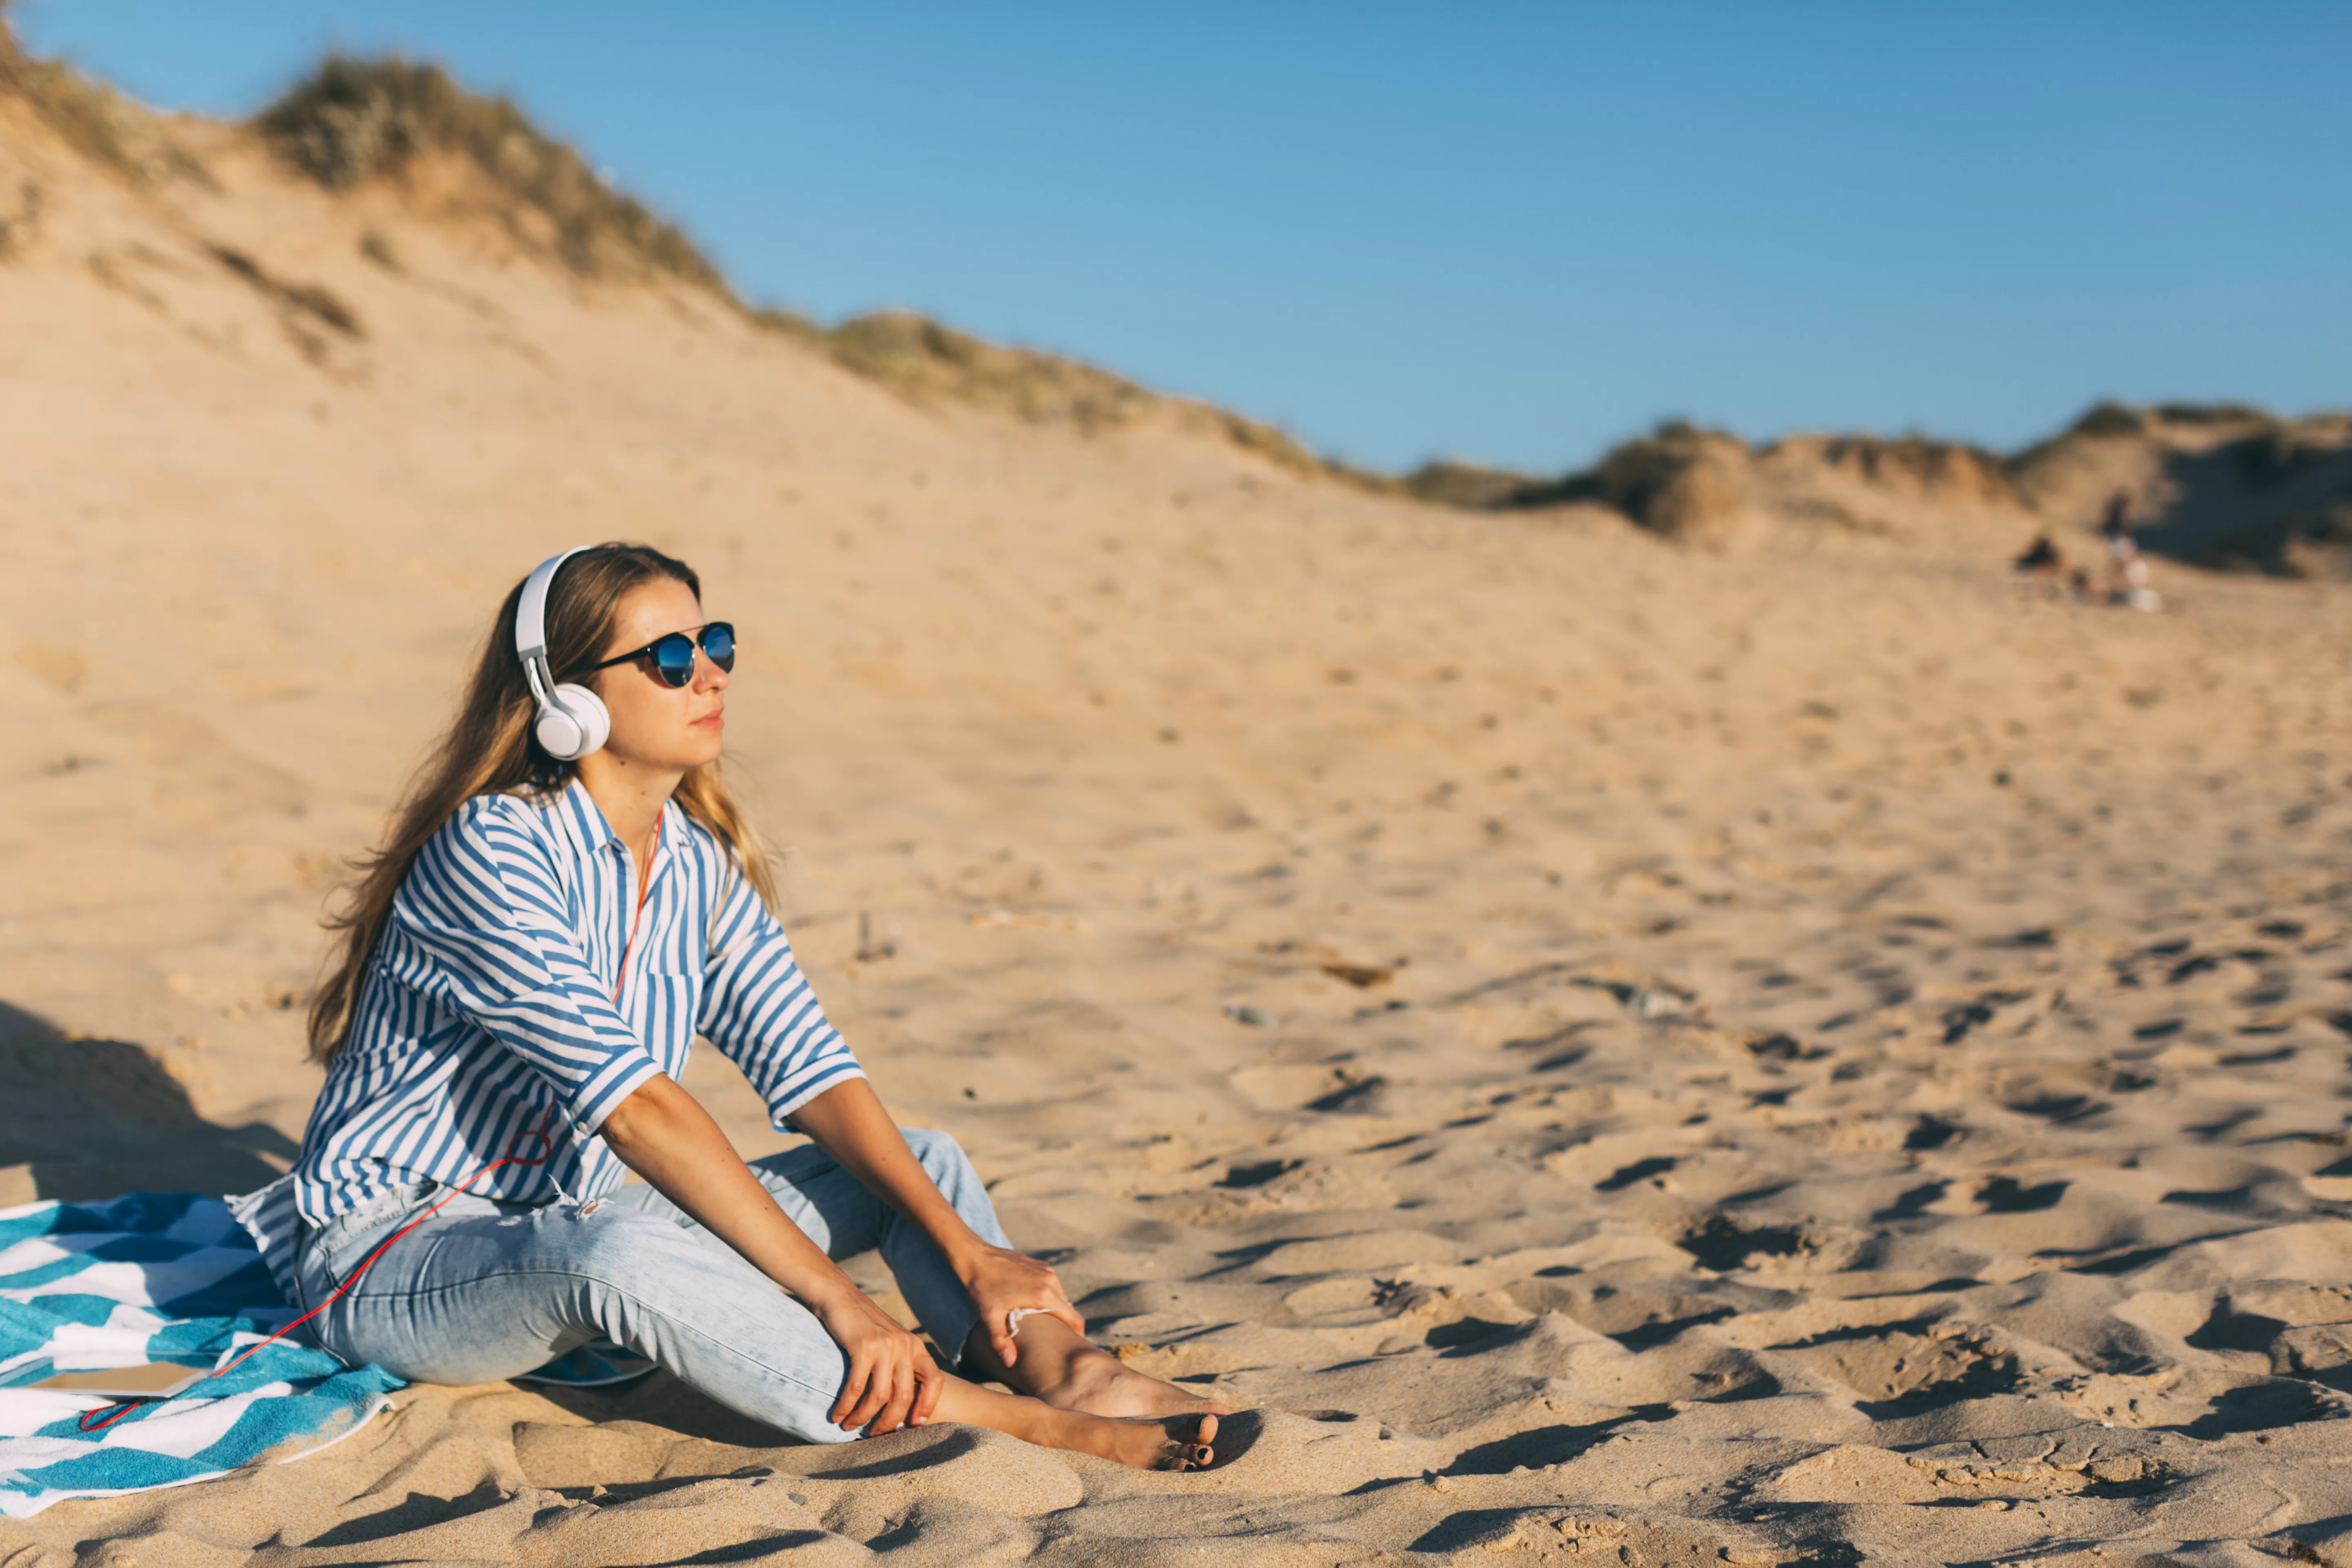
[(292, 1316), (219, 1199), (0, 1208), (0, 1514), (202, 1481), (358, 1432), (400, 1380), (292, 1340), (115, 1420), (113, 1399), (28, 1387), (148, 1361), (209, 1371)]

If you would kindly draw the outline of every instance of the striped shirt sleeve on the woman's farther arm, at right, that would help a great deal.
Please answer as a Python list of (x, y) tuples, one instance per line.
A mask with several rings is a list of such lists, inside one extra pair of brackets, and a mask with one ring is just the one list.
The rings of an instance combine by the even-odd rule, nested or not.
[(710, 926), (696, 1027), (743, 1070), (779, 1128), (835, 1084), (866, 1077), (849, 1041), (826, 1023), (783, 926), (741, 875), (727, 877)]

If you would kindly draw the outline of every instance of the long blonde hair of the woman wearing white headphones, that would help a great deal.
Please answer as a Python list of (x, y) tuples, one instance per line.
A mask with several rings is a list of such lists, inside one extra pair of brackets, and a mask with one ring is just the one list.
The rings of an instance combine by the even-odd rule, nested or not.
[[(588, 665), (612, 639), (621, 599), (633, 588), (659, 578), (684, 583), (696, 597), (703, 592), (691, 567), (652, 545), (607, 543), (581, 550), (564, 562), (548, 590), (548, 668), (555, 679), (583, 679)], [(350, 1039), (367, 971), (383, 940), (383, 926), (393, 917), (393, 898), (419, 851), (456, 816), (456, 809), (475, 795), (553, 795), (572, 783), (574, 766), (548, 757), (532, 736), (532, 689), (522, 679), (522, 661), (515, 658), (515, 604), (520, 599), (522, 583), (515, 583), (506, 604), (499, 607), (499, 621), (489, 628), (473, 679), (466, 682), (466, 701), (459, 705), (456, 719), (426, 757), (416, 778), (409, 780), (409, 790), (393, 813), (390, 837), (374, 853), (350, 863), (358, 879), (346, 889), (343, 907), (327, 917), (327, 929), (341, 940), (332, 950), (327, 980), (310, 999), (310, 1060), (315, 1063), (334, 1060), (334, 1053)], [(767, 851), (727, 780), (720, 778), (720, 764), (708, 762), (689, 769), (670, 799), (717, 835), (734, 865), (760, 893), (760, 903), (774, 910), (776, 879)]]

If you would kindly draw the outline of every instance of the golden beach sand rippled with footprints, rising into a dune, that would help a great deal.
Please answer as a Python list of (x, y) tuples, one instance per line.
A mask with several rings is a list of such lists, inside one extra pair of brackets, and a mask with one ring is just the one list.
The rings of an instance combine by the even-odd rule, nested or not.
[(2140, 616), (2006, 583), (2013, 517), (1705, 552), (913, 407), (12, 113), (0, 1201), (285, 1168), (339, 860), (496, 597), (647, 538), (741, 628), (729, 766), (882, 1095), (1256, 1413), (1152, 1476), (414, 1387), (7, 1568), (2352, 1561), (2345, 588)]

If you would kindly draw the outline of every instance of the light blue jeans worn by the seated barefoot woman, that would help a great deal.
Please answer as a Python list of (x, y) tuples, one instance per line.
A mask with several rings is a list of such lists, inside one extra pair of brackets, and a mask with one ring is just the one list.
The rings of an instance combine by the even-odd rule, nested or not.
[[(978, 1173), (946, 1133), (908, 1128), (915, 1159), (983, 1241), (1007, 1246)], [(833, 1258), (882, 1248), (946, 1366), (978, 1312), (938, 1246), (814, 1145), (750, 1161), (776, 1206)], [(402, 1187), (310, 1229), (303, 1307), (350, 1279), (376, 1246), (445, 1194)], [(402, 1237), (327, 1312), (320, 1342), (409, 1382), (496, 1382), (597, 1335), (670, 1368), (731, 1410), (816, 1443), (849, 1359), (823, 1324), (652, 1187), (583, 1208), (461, 1194)]]

